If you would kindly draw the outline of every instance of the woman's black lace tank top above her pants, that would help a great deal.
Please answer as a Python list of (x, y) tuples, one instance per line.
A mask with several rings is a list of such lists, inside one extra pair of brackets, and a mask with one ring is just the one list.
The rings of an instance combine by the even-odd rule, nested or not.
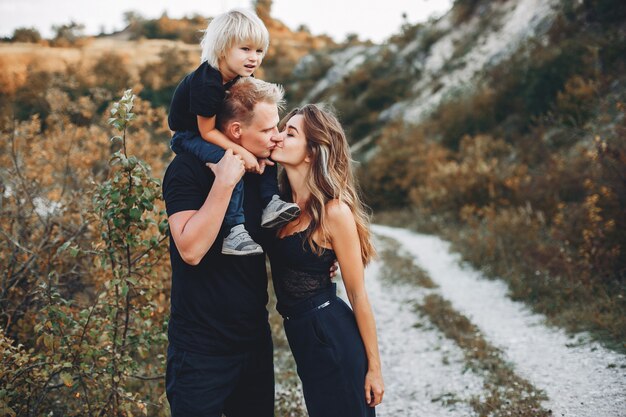
[(321, 255), (317, 255), (304, 231), (282, 239), (277, 237), (271, 242), (268, 254), (279, 313), (284, 315), (287, 309), (332, 286), (330, 267), (336, 259), (335, 252), (322, 248)]

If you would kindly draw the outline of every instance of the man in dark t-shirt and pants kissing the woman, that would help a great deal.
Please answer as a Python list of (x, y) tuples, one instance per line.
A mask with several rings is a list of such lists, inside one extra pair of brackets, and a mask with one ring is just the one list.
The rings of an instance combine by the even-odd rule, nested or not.
[[(218, 127), (266, 158), (279, 140), (281, 87), (251, 77), (230, 89)], [(243, 176), (245, 227), (261, 244), (260, 175), (232, 151), (217, 164), (182, 153), (163, 180), (170, 224), (171, 318), (166, 391), (173, 417), (274, 415), (272, 340), (263, 254), (222, 255), (224, 214)]]

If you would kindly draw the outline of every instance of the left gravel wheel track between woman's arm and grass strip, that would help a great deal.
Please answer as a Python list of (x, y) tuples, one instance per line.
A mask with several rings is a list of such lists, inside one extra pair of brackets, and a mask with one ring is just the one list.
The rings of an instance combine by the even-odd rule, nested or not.
[(483, 381), (464, 372), (461, 349), (419, 317), (414, 304), (428, 290), (381, 279), (378, 262), (366, 271), (367, 291), (378, 328), (385, 398), (379, 417), (467, 417)]

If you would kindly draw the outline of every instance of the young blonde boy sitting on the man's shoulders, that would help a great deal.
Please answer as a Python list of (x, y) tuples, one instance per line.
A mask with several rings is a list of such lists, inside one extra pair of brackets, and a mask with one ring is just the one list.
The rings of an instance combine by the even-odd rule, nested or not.
[[(217, 163), (226, 149), (232, 149), (241, 156), (246, 170), (261, 174), (261, 198), (265, 204), (261, 225), (279, 227), (296, 218), (300, 209), (278, 197), (276, 167), (269, 160), (259, 162), (216, 128), (216, 117), (228, 89), (240, 77), (252, 76), (261, 65), (269, 46), (267, 28), (254, 13), (233, 9), (209, 23), (201, 46), (200, 66), (183, 78), (172, 97), (168, 117), (169, 127), (174, 131), (171, 148), (177, 154), (189, 152), (211, 163)], [(268, 130), (274, 128), (267, 126)], [(244, 227), (243, 195), (240, 181), (224, 217), (223, 254), (263, 253)]]

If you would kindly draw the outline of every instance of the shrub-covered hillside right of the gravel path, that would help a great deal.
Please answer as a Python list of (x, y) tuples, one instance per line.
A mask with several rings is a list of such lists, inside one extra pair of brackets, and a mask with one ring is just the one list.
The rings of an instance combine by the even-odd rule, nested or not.
[(606, 4), (572, 3), (476, 93), (386, 126), (360, 177), (378, 212), (406, 213), (385, 218), (444, 235), (513, 298), (624, 350), (626, 34)]

